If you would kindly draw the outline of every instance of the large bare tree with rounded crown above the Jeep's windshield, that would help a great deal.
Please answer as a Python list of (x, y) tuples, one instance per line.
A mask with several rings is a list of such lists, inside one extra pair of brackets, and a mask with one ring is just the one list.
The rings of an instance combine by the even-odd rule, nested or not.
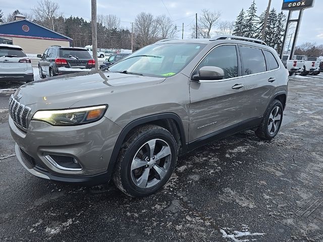
[(134, 23), (135, 47), (142, 48), (158, 39), (158, 24), (150, 13), (140, 13)]

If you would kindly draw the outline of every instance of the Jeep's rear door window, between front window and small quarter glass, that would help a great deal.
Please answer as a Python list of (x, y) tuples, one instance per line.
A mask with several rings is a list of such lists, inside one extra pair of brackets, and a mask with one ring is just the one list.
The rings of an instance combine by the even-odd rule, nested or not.
[(266, 63), (261, 49), (240, 46), (240, 51), (246, 75), (266, 71)]

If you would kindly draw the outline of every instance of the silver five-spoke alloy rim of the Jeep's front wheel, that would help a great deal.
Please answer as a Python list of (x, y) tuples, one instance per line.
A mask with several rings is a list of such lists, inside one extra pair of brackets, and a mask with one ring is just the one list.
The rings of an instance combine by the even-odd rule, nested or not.
[(133, 183), (147, 189), (158, 184), (166, 176), (172, 159), (171, 148), (161, 139), (152, 139), (142, 145), (131, 163)]

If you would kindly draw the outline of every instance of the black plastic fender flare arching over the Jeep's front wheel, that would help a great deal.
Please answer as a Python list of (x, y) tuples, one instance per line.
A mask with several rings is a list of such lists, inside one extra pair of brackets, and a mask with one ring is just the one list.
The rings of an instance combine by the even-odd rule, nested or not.
[(177, 114), (172, 113), (172, 112), (168, 112), (168, 113), (159, 113), (159, 114), (153, 114), (153, 115), (149, 115), (149, 116), (145, 116), (145, 117), (140, 117), (138, 119), (133, 120), (121, 131), (121, 133), (117, 139), (117, 142), (115, 144), (115, 147), (113, 149), (112, 155), (110, 157), (109, 165), (107, 166), (107, 176), (109, 177), (109, 179), (111, 178), (112, 173), (114, 171), (115, 164), (118, 159), (118, 155), (119, 155), (121, 146), (124, 143), (125, 138), (129, 134), (129, 132), (139, 125), (144, 125), (144, 124), (147, 124), (147, 123), (150, 123), (153, 121), (157, 121), (160, 119), (166, 119), (166, 118), (173, 119), (176, 122), (176, 124), (179, 128), (179, 133), (180, 133), (181, 141), (182, 141), (182, 153), (188, 152), (188, 145), (186, 144), (184, 126), (183, 126), (181, 118)]

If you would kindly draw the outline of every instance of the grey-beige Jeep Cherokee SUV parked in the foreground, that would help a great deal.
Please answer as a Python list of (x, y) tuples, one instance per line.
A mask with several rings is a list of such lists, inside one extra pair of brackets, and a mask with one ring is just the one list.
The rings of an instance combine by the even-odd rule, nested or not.
[(288, 72), (264, 42), (237, 36), (161, 40), (110, 67), (21, 86), (9, 124), (35, 176), (161, 189), (179, 155), (243, 130), (273, 139)]

